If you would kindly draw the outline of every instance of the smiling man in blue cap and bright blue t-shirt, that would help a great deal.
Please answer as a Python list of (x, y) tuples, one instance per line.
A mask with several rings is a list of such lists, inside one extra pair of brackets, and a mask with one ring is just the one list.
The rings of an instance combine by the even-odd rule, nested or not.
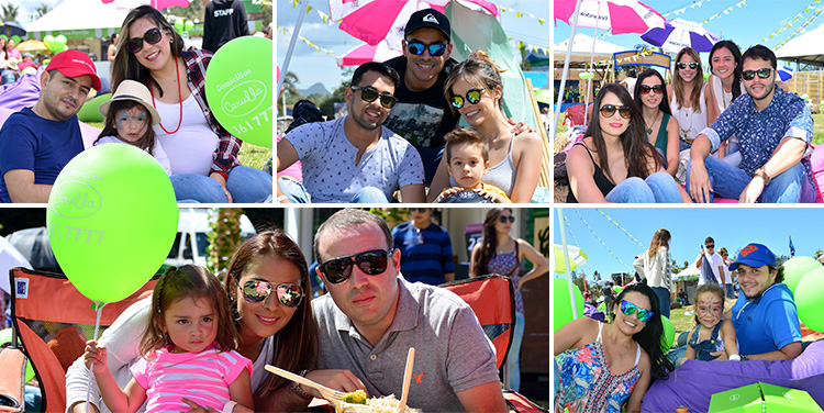
[[(761, 244), (749, 244), (730, 265), (742, 294), (733, 305), (733, 325), (742, 360), (789, 360), (801, 354), (801, 326), (783, 268)], [(735, 356), (733, 356), (735, 357)]]

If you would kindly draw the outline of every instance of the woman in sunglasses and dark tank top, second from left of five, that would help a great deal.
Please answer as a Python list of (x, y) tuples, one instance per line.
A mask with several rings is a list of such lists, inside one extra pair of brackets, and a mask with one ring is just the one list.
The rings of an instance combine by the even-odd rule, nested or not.
[(664, 169), (671, 176), (678, 171), (678, 120), (669, 110), (664, 77), (658, 70), (647, 69), (635, 82), (635, 104), (644, 116), (644, 136), (655, 146), (664, 160)]

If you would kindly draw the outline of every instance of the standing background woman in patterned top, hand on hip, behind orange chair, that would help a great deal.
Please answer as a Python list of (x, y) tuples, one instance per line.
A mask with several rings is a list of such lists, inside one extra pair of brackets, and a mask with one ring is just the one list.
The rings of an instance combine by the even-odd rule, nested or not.
[[(515, 216), (510, 208), (493, 208), (483, 220), (483, 236), (475, 245), (469, 264), (469, 277), (498, 274), (510, 277), (515, 298), (515, 332), (508, 357), (510, 388), (519, 391), (521, 386), (521, 342), (524, 337), (524, 302), (521, 288), (549, 272), (549, 260), (524, 239), (510, 236)], [(526, 258), (533, 268), (521, 276), (521, 260)]]

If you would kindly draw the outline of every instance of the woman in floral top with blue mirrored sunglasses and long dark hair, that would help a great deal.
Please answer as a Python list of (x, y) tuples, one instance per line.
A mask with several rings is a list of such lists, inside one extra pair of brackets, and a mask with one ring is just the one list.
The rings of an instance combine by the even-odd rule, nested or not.
[(555, 332), (557, 413), (639, 412), (649, 384), (672, 370), (661, 351), (664, 324), (653, 289), (625, 287), (613, 310), (613, 323), (581, 317)]

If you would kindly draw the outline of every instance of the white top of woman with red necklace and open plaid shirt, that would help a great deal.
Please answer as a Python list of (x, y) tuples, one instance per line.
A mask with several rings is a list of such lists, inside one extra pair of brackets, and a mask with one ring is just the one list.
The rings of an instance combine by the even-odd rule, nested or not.
[[(155, 100), (155, 109), (160, 114), (163, 126), (167, 131), (175, 131), (180, 122), (180, 104)], [(157, 143), (169, 157), (171, 174), (209, 175), (219, 137), (209, 127), (203, 110), (193, 94), (183, 101), (183, 120), (176, 133), (167, 134), (159, 124), (153, 127)]]

